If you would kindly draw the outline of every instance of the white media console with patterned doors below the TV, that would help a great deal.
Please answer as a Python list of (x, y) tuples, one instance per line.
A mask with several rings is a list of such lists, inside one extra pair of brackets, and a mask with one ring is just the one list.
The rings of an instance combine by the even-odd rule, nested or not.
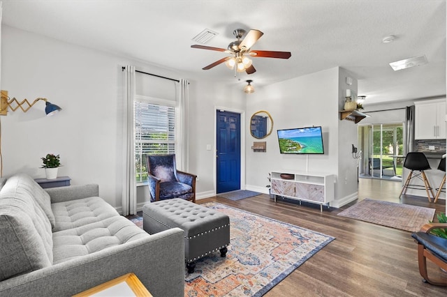
[[(286, 178), (281, 177), (286, 174)], [(293, 172), (290, 170), (272, 171), (270, 186), (274, 201), (277, 195), (329, 206), (334, 200), (335, 174), (318, 174), (313, 172)]]

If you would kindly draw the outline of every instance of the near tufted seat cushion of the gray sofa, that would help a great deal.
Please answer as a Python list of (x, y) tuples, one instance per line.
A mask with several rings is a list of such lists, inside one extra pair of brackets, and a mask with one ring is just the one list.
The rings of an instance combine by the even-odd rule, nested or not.
[(121, 215), (54, 232), (54, 264), (149, 236)]

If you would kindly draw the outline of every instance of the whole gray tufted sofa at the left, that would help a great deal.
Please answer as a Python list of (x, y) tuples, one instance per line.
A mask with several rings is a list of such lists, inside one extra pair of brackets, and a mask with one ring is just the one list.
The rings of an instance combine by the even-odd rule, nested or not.
[(98, 185), (0, 181), (0, 296), (71, 296), (126, 273), (153, 296), (184, 296), (182, 229), (147, 234)]

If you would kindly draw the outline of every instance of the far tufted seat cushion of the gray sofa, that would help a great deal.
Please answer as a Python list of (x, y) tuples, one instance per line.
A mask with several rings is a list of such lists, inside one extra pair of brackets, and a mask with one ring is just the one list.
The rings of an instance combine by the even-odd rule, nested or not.
[(100, 197), (89, 197), (52, 204), (55, 226), (53, 232), (77, 228), (119, 216), (110, 204)]

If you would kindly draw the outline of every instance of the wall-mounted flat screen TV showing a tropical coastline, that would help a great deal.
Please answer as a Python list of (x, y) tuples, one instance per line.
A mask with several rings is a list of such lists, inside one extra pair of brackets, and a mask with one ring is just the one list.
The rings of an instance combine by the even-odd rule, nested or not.
[(323, 154), (321, 127), (277, 130), (279, 152), (284, 154)]

